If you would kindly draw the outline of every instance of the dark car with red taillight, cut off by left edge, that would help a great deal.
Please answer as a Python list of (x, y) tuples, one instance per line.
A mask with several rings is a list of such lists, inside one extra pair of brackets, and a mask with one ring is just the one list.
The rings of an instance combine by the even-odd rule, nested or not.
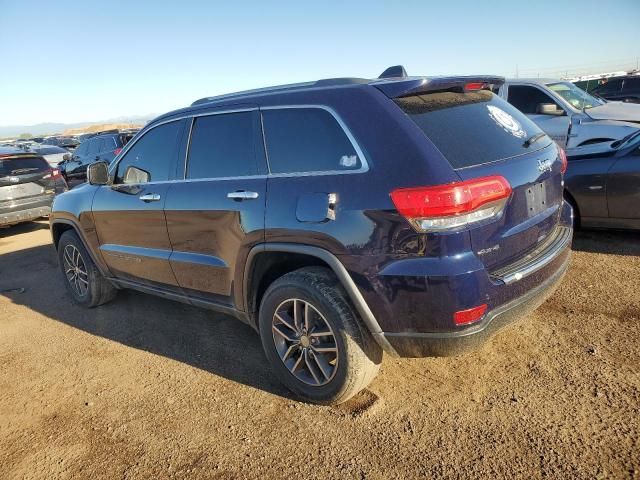
[(0, 226), (49, 215), (56, 194), (67, 189), (42, 156), (0, 147)]

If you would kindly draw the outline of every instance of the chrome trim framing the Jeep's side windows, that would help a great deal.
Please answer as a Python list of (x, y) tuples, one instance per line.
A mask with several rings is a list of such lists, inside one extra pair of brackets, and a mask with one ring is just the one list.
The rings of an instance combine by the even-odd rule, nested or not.
[[(351, 146), (355, 150), (356, 154), (360, 158), (360, 168), (355, 170), (318, 170), (318, 171), (308, 171), (308, 172), (288, 172), (288, 173), (271, 173), (271, 165), (269, 163), (269, 152), (267, 150), (265, 130), (264, 130), (264, 120), (262, 114), (260, 114), (260, 126), (262, 128), (262, 141), (265, 150), (265, 158), (267, 162), (267, 170), (268, 173), (261, 175), (245, 175), (245, 176), (234, 176), (234, 177), (214, 177), (214, 178), (186, 178), (187, 174), (187, 163), (189, 159), (189, 150), (191, 148), (191, 134), (193, 132), (193, 125), (195, 123), (195, 119), (198, 117), (210, 117), (213, 115), (224, 115), (229, 113), (241, 113), (241, 112), (253, 112), (262, 110), (291, 110), (291, 109), (319, 109), (328, 112), (334, 120), (338, 123), (344, 134), (347, 136), (347, 139), (351, 143)], [(364, 152), (360, 148), (357, 140), (351, 133), (351, 130), (346, 125), (346, 123), (342, 120), (342, 117), (336, 112), (333, 108), (327, 105), (321, 104), (296, 104), (296, 105), (271, 105), (266, 107), (248, 107), (248, 108), (232, 108), (226, 110), (217, 110), (214, 112), (203, 112), (203, 113), (189, 113), (185, 115), (181, 115), (179, 117), (174, 117), (171, 119), (164, 120), (162, 122), (155, 123), (149, 127), (145, 127), (145, 129), (141, 130), (139, 134), (136, 135), (134, 139), (132, 139), (123, 149), (123, 151), (116, 157), (111, 165), (109, 165), (109, 174), (111, 175), (115, 172), (118, 164), (122, 159), (127, 155), (127, 152), (136, 144), (138, 141), (143, 138), (148, 132), (153, 130), (156, 127), (161, 125), (166, 125), (171, 122), (179, 122), (180, 120), (190, 119), (191, 124), (189, 126), (189, 137), (187, 140), (187, 148), (185, 149), (185, 157), (184, 157), (184, 169), (182, 172), (182, 178), (176, 178), (174, 180), (163, 180), (159, 182), (149, 182), (144, 185), (159, 185), (165, 183), (176, 183), (176, 182), (212, 182), (212, 181), (228, 181), (228, 180), (257, 180), (257, 179), (268, 179), (268, 178), (289, 178), (289, 177), (313, 177), (313, 176), (326, 176), (326, 175), (351, 175), (358, 173), (366, 173), (369, 171), (369, 162)], [(178, 159), (180, 161), (180, 159)], [(125, 184), (120, 184), (125, 185)]]

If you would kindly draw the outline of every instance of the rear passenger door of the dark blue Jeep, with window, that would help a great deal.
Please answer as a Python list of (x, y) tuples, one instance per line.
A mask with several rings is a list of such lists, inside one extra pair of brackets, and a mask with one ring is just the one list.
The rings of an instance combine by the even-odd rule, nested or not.
[(264, 240), (266, 162), (255, 108), (192, 120), (185, 180), (165, 203), (171, 267), (193, 299), (236, 306), (236, 270)]

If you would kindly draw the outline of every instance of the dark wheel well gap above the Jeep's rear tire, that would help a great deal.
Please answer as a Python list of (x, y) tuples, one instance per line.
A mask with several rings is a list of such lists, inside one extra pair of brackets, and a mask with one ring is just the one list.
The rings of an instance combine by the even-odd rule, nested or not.
[(258, 325), (258, 309), (264, 293), (281, 276), (304, 267), (331, 267), (313, 255), (291, 252), (262, 252), (255, 256), (247, 284), (247, 309), (251, 322)]

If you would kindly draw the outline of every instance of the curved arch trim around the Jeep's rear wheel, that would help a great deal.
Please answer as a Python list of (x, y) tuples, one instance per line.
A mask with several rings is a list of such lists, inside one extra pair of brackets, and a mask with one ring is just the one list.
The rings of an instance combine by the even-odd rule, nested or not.
[[(284, 261), (282, 260), (284, 258)], [(253, 247), (244, 268), (242, 302), (245, 312), (256, 326), (255, 312), (268, 285), (276, 278), (305, 266), (324, 266), (338, 278), (363, 323), (380, 347), (397, 355), (384, 338), (382, 329), (345, 266), (331, 252), (311, 245), (265, 243)]]

